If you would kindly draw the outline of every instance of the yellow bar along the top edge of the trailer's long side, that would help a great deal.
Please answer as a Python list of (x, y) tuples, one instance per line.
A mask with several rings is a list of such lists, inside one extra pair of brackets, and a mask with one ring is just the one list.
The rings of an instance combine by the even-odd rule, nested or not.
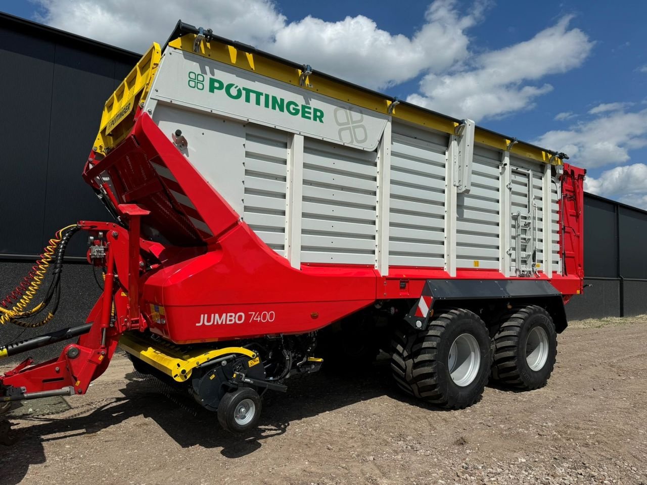
[[(267, 58), (259, 52), (239, 50), (233, 45), (228, 45), (216, 39), (211, 39), (210, 41), (204, 39), (199, 42), (198, 51), (195, 52), (193, 47), (196, 44), (196, 37), (196, 34), (185, 34), (180, 38), (173, 39), (168, 45), (185, 50), (186, 52), (193, 52), (204, 58), (214, 59), (215, 61), (236, 66), (239, 69), (256, 72), (274, 80), (296, 86), (300, 85), (300, 78), (303, 73), (301, 69), (296, 69), (277, 59)], [(440, 114), (432, 113), (409, 103), (401, 103), (397, 107), (393, 107), (391, 113), (389, 113), (389, 106), (392, 103), (391, 99), (381, 96), (378, 93), (364, 91), (359, 87), (353, 87), (333, 78), (322, 76), (316, 72), (309, 74), (305, 78), (305, 83), (302, 83), (302, 87), (303, 89), (319, 92), (337, 100), (372, 109), (378, 113), (390, 114), (390, 116), (398, 120), (429, 127), (437, 131), (449, 133), (450, 135), (454, 135), (455, 128), (458, 126), (458, 123), (452, 120), (452, 118), (446, 118)], [(507, 150), (512, 143), (512, 140), (506, 136), (498, 135), (492, 131), (480, 129), (479, 127), (476, 127), (474, 141), (499, 150)], [(563, 164), (560, 158), (554, 156), (554, 153), (523, 142), (512, 144), (510, 153), (552, 165)]]

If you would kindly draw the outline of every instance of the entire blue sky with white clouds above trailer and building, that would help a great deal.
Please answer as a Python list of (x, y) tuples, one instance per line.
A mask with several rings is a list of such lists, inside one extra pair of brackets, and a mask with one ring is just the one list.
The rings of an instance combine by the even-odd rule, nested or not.
[[(183, 5), (181, 5), (183, 4)], [(175, 21), (565, 151), (647, 208), (647, 2), (34, 0), (1, 6), (142, 51)]]

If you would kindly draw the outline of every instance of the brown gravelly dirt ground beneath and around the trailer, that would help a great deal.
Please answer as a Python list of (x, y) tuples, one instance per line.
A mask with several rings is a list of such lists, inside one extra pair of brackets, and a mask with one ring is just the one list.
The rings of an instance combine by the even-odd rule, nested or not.
[(463, 411), (406, 398), (385, 361), (288, 384), (239, 438), (117, 356), (86, 396), (12, 411), (0, 483), (647, 484), (647, 317), (573, 323), (547, 387)]

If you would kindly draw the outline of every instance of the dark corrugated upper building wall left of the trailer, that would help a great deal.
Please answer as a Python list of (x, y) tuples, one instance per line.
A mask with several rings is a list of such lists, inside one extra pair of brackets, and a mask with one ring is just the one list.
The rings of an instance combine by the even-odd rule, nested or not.
[[(0, 15), (0, 257), (32, 257), (58, 228), (109, 217), (81, 171), (105, 100), (138, 57)], [(80, 239), (69, 255), (85, 254)]]

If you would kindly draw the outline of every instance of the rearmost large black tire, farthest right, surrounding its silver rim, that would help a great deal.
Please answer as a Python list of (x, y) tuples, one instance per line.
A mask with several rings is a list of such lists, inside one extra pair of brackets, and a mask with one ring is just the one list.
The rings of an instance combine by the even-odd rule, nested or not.
[[(538, 389), (548, 382), (555, 365), (557, 355), (557, 334), (553, 318), (542, 307), (529, 305), (514, 308), (501, 320), (501, 327), (493, 339), (494, 362), (492, 363), (492, 377), (504, 385), (518, 389)], [(532, 369), (526, 356), (532, 349), (527, 346), (529, 335), (533, 329), (543, 329), (547, 341), (545, 361), (543, 358), (532, 362)], [(541, 332), (536, 330), (534, 335)], [(531, 338), (530, 343), (533, 343)], [(540, 351), (541, 352), (541, 351)], [(532, 358), (531, 358), (532, 361)]]

